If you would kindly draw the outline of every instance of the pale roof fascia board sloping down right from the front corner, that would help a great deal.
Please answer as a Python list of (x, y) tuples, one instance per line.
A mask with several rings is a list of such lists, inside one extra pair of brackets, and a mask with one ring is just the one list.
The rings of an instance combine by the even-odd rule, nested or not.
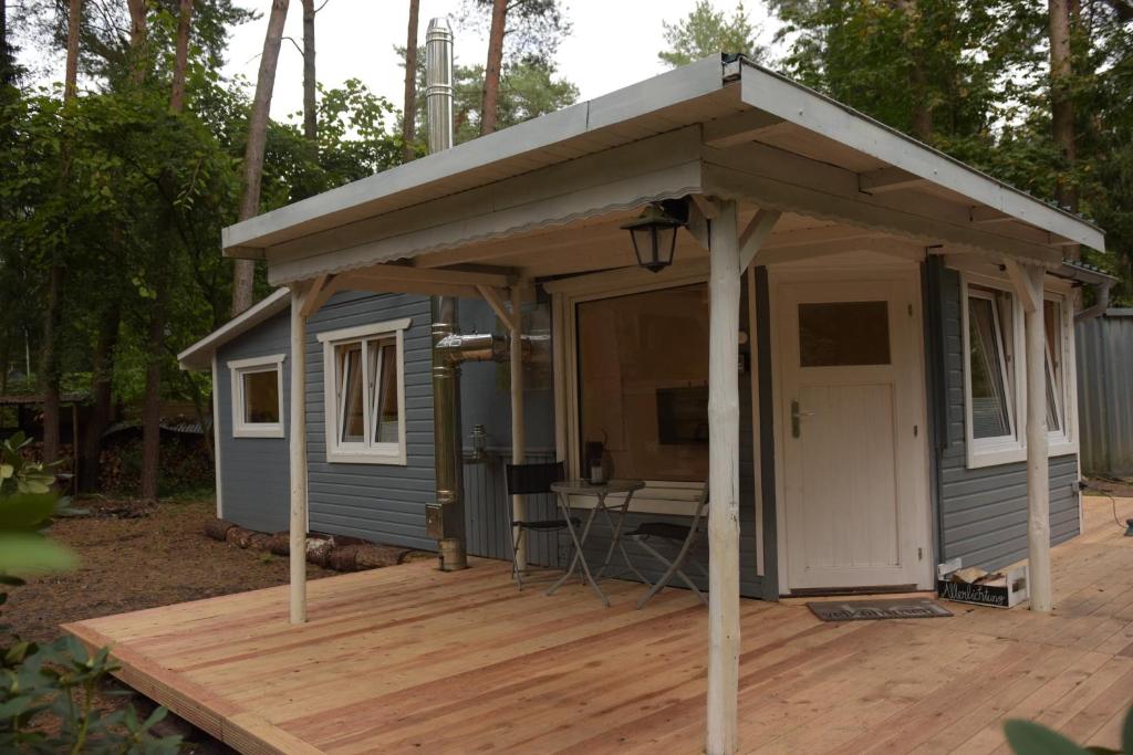
[(1105, 232), (858, 111), (778, 74), (744, 61), (740, 97), (747, 104), (846, 145), (1024, 223), (1105, 251)]

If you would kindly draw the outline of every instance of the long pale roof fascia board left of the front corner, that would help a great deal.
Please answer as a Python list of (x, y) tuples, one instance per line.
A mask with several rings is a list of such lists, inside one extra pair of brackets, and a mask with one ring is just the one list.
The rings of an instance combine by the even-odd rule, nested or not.
[[(517, 157), (604, 127), (646, 115), (724, 86), (721, 57), (709, 55), (689, 66), (639, 81), (616, 92), (508, 129), (427, 155), (368, 178), (257, 215), (222, 232), (227, 256), (247, 247), (269, 246), (262, 239), (326, 215), (359, 208), (367, 203), (433, 181)], [(321, 229), (318, 229), (321, 230)], [(273, 242), (274, 243), (274, 242)], [(244, 247), (245, 249), (240, 249)]]

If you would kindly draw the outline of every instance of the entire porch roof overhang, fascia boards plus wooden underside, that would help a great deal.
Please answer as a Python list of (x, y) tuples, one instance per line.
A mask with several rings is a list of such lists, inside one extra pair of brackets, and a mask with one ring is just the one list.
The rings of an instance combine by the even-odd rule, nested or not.
[[(517, 250), (593, 251), (642, 205), (696, 194), (1050, 268), (1067, 246), (1105, 247), (1081, 217), (713, 57), (230, 226), (224, 254), (266, 259), (274, 284), (394, 261), (455, 272)], [(551, 233), (579, 241), (547, 243)]]

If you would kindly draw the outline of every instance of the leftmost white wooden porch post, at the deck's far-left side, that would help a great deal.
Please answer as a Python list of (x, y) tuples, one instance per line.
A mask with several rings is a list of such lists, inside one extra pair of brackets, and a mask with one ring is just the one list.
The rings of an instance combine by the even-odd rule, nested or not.
[(307, 620), (307, 316), (304, 288), (291, 286), (291, 624)]

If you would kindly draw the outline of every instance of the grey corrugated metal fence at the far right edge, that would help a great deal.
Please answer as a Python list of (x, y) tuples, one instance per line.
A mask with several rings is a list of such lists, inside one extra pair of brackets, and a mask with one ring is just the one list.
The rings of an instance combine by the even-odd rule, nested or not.
[(1082, 472), (1133, 477), (1133, 309), (1079, 323), (1074, 337)]

